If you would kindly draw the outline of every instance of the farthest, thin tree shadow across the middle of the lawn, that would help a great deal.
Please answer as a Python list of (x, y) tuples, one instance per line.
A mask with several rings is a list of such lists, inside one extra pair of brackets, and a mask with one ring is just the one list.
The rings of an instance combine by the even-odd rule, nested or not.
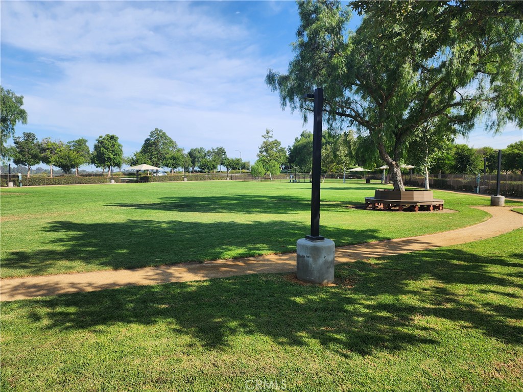
[[(261, 195), (224, 195), (224, 196), (170, 196), (160, 198), (158, 203), (113, 203), (108, 206), (133, 208), (137, 210), (158, 210), (197, 213), (239, 213), (239, 214), (293, 214), (310, 211), (310, 199)], [(341, 211), (346, 204), (356, 201), (323, 201), (323, 211)], [(362, 201), (359, 201), (362, 203)]]

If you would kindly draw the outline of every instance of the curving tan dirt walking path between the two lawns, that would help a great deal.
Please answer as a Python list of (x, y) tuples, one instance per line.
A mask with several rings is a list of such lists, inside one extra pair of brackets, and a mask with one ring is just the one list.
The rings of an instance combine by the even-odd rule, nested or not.
[[(450, 232), (339, 247), (336, 248), (335, 252), (336, 263), (347, 263), (440, 246), (464, 244), (496, 237), (523, 227), (523, 215), (510, 211), (511, 207), (477, 206), (475, 208), (488, 212), (492, 215), (492, 218), (474, 226)], [(281, 255), (217, 260), (204, 263), (183, 263), (132, 270), (32, 276), (29, 278), (2, 280), (0, 299), (2, 301), (14, 301), (15, 299), (115, 289), (116, 287), (131, 285), (188, 282), (251, 273), (292, 272), (295, 270), (296, 253), (284, 253)]]

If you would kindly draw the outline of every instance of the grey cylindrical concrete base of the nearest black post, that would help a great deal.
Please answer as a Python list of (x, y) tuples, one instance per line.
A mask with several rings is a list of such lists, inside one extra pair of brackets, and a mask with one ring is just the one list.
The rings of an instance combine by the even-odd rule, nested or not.
[(326, 284), (334, 282), (334, 241), (325, 238), (310, 241), (300, 238), (296, 243), (296, 275), (303, 282)]

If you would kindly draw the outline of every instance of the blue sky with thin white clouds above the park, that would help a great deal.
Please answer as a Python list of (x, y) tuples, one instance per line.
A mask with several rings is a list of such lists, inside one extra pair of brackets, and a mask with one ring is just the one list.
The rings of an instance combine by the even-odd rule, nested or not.
[[(2, 1), (2, 86), (24, 95), (17, 134), (64, 142), (116, 134), (124, 155), (161, 128), (186, 151), (225, 147), (254, 163), (261, 134), (283, 146), (303, 129), (264, 83), (285, 72), (299, 25), (294, 2)], [(354, 20), (352, 28), (355, 27)], [(468, 143), (521, 140), (481, 129)], [(236, 151), (238, 150), (238, 151)]]

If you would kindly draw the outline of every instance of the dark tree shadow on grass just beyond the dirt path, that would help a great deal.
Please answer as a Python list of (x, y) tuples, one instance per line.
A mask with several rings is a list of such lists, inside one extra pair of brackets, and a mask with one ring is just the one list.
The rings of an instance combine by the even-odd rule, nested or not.
[[(4, 273), (45, 275), (103, 268), (131, 269), (296, 250), (310, 226), (301, 222), (183, 222), (128, 220), (111, 223), (56, 221), (44, 230), (52, 243), (37, 250), (16, 250), (2, 260)], [(325, 233), (331, 233), (325, 229)], [(380, 239), (377, 230), (337, 232), (345, 243)], [(58, 237), (58, 238), (57, 238)]]

